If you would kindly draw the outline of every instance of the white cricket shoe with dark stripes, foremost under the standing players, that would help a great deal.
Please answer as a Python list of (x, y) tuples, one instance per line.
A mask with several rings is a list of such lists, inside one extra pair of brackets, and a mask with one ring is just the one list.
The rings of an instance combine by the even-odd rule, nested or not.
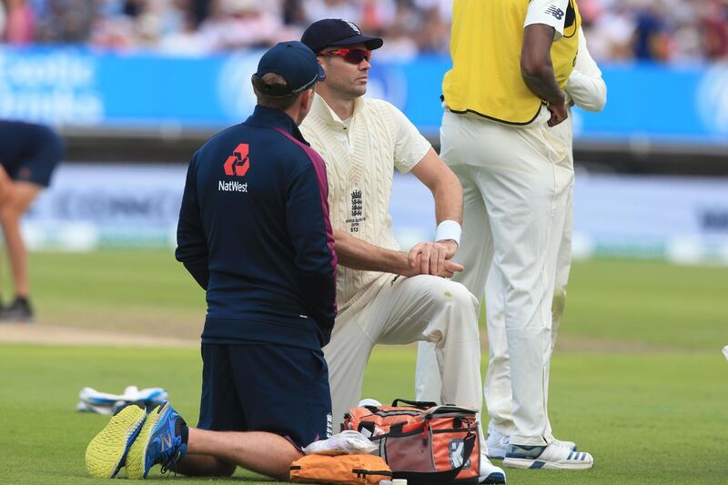
[(510, 445), (503, 466), (521, 469), (588, 470), (594, 466), (591, 454), (551, 443), (548, 446)]

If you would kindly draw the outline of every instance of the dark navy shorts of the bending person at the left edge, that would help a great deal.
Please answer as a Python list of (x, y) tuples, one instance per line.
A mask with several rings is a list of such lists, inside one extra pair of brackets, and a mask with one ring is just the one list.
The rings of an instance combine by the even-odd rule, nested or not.
[(13, 180), (48, 187), (63, 142), (47, 126), (0, 120), (0, 165)]

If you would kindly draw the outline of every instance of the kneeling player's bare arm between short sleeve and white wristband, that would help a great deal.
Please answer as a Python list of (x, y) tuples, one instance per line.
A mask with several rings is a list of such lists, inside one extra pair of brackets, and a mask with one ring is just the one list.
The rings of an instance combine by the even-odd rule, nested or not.
[(462, 186), (450, 167), (440, 159), (435, 150), (425, 154), (412, 168), (412, 174), (430, 188), (435, 199), (435, 218), (438, 223), (454, 220), (462, 223)]

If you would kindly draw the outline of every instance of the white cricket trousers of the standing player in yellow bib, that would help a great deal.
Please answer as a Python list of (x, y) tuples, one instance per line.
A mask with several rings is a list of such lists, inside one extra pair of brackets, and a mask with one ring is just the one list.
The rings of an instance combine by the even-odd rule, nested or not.
[[(464, 192), (455, 260), (466, 269), (455, 278), (474, 295), (486, 294), (486, 405), (495, 428), (521, 445), (553, 440), (547, 409), (551, 304), (571, 221), (571, 129), (549, 128), (542, 111), (528, 127), (446, 112), (440, 132), (441, 157)], [(437, 389), (430, 352), (422, 350), (418, 399)]]

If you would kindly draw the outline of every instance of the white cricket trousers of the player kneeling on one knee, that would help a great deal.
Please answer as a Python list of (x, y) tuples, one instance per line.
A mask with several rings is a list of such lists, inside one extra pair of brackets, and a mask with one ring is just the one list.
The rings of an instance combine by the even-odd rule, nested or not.
[[(329, 364), (334, 429), (339, 429), (347, 409), (359, 403), (364, 369), (376, 344), (431, 342), (436, 354), (436, 376), (442, 382), (441, 401), (480, 410), (477, 311), (477, 298), (450, 279), (382, 275), (339, 313), (331, 341), (323, 349)], [(402, 389), (400, 397), (408, 399), (410, 389)]]

